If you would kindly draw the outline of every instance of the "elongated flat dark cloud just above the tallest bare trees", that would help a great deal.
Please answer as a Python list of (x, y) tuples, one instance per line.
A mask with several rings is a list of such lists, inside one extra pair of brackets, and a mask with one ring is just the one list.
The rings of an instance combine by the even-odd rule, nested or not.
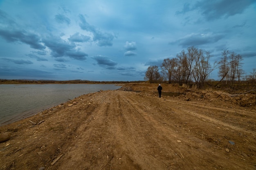
[(187, 48), (188, 46), (198, 46), (218, 42), (219, 40), (224, 38), (224, 36), (225, 35), (220, 33), (192, 33), (190, 35), (186, 35), (184, 38), (180, 38), (179, 40), (170, 42), (169, 44), (178, 44), (183, 48)]

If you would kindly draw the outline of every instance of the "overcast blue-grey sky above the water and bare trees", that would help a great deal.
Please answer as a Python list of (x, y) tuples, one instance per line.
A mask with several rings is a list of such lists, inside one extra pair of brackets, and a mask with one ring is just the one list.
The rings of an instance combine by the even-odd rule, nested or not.
[(255, 30), (255, 0), (0, 0), (0, 78), (144, 80), (189, 46), (249, 74)]

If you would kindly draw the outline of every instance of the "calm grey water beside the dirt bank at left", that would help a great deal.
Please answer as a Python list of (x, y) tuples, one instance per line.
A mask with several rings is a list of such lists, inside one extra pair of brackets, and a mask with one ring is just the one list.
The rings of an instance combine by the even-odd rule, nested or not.
[(0, 126), (114, 84), (0, 84)]

